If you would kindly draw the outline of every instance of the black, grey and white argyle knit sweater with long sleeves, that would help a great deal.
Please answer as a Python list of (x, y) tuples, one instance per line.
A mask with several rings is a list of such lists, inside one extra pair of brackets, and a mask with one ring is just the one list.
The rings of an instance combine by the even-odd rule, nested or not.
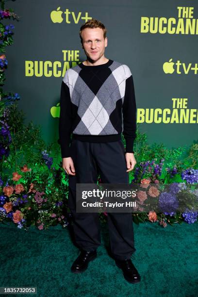
[(126, 140), (133, 151), (136, 102), (127, 65), (110, 60), (97, 66), (82, 63), (66, 70), (61, 84), (59, 139), (62, 158), (70, 157), (73, 139), (105, 143)]

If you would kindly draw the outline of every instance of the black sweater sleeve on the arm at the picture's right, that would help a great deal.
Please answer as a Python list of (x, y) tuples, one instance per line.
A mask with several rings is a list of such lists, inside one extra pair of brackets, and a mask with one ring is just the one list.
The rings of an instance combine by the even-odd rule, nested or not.
[(132, 75), (126, 79), (123, 113), (123, 135), (126, 140), (125, 152), (133, 151), (133, 142), (136, 137), (136, 102)]

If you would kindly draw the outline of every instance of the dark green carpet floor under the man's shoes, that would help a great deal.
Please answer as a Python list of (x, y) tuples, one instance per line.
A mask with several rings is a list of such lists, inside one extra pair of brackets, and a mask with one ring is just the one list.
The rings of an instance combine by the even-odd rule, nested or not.
[(79, 250), (68, 227), (23, 231), (0, 223), (0, 286), (36, 286), (33, 296), (41, 297), (198, 296), (198, 222), (166, 228), (157, 222), (133, 226), (136, 252), (132, 261), (142, 278), (137, 284), (125, 281), (108, 255), (105, 225), (98, 258), (76, 275), (70, 266)]

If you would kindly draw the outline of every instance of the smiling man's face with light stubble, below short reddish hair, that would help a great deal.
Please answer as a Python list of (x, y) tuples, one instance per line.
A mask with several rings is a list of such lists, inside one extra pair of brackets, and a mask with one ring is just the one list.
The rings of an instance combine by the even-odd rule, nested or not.
[(107, 37), (104, 39), (101, 28), (85, 28), (82, 30), (82, 48), (92, 61), (98, 61), (104, 56), (107, 47)]

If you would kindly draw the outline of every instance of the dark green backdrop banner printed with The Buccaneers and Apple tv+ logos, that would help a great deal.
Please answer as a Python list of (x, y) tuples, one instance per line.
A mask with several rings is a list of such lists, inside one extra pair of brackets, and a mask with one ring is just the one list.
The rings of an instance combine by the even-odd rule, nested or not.
[(91, 18), (107, 28), (105, 57), (130, 67), (137, 123), (148, 143), (198, 140), (197, 0), (16, 0), (5, 90), (20, 95), (26, 123), (57, 141), (60, 89), (68, 68), (86, 59), (79, 31)]

